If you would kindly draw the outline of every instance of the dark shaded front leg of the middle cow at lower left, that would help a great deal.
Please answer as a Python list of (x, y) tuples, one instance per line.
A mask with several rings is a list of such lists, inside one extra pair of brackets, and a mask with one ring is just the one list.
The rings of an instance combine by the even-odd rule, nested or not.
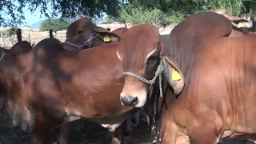
[(39, 113), (36, 116), (34, 130), (30, 137), (30, 144), (42, 144), (50, 131), (58, 126), (61, 121), (46, 114)]

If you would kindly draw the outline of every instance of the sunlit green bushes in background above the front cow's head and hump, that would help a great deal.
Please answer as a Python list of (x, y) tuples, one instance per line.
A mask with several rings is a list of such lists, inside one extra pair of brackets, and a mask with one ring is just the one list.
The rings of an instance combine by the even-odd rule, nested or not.
[(132, 24), (170, 24), (191, 14), (224, 8), (230, 14), (242, 12), (242, 0), (130, 0), (119, 10), (118, 21)]

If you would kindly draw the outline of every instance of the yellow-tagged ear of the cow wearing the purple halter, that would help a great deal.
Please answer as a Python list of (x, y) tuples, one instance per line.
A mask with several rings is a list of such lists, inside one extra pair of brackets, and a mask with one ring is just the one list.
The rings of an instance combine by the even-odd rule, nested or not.
[(120, 37), (118, 34), (111, 33), (109, 30), (106, 30), (99, 26), (93, 26), (94, 34), (101, 38), (104, 42), (119, 42)]

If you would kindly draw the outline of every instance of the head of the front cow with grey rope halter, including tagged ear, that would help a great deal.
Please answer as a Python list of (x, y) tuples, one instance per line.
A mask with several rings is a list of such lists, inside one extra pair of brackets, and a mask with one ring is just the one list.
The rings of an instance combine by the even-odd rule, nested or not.
[[(158, 28), (151, 25), (133, 26), (122, 35), (121, 48), (117, 50), (122, 62), (125, 84), (120, 94), (123, 106), (141, 107), (150, 92), (149, 80), (157, 77), (156, 71), (163, 69), (167, 82), (179, 94), (184, 86), (184, 78), (178, 65), (162, 53)], [(174, 79), (177, 74), (180, 79)]]

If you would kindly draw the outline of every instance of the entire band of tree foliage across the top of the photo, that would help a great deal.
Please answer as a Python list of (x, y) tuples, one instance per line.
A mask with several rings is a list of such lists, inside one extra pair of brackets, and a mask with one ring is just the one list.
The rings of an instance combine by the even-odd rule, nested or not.
[[(17, 26), (24, 19), (24, 7), (31, 12), (39, 9), (47, 18), (62, 14), (62, 18), (84, 14), (129, 23), (169, 24), (179, 22), (201, 11), (225, 8), (230, 14), (256, 14), (254, 0), (13, 0), (0, 1), (0, 26)], [(51, 10), (49, 10), (49, 6)], [(8, 15), (8, 17), (6, 17)]]

